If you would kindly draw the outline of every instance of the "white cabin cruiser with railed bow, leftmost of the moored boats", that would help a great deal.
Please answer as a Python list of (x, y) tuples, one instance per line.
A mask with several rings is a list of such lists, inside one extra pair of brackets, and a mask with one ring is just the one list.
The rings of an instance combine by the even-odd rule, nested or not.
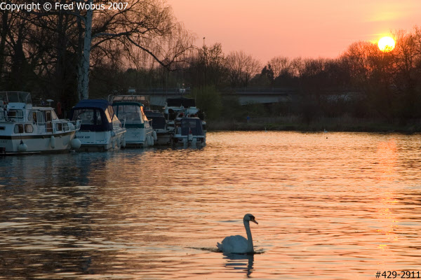
[(0, 92), (1, 155), (75, 150), (81, 145), (75, 139), (80, 125), (59, 119), (51, 106), (33, 106), (29, 92)]

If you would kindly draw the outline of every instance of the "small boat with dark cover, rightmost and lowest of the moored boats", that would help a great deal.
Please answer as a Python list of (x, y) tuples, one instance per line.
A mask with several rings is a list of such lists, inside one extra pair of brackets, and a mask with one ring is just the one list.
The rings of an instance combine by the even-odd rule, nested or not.
[(178, 118), (175, 120), (175, 132), (171, 139), (173, 146), (203, 147), (206, 135), (200, 118)]

